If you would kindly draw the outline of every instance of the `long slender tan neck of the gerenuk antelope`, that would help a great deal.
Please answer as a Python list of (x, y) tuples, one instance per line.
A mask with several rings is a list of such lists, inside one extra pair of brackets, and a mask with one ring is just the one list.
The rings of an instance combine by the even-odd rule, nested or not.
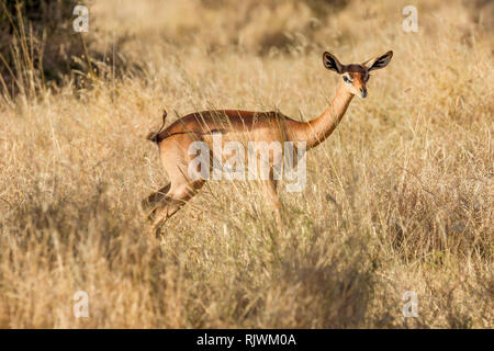
[(295, 139), (305, 141), (307, 149), (323, 143), (338, 126), (352, 98), (353, 94), (340, 83), (329, 106), (317, 118), (302, 123)]

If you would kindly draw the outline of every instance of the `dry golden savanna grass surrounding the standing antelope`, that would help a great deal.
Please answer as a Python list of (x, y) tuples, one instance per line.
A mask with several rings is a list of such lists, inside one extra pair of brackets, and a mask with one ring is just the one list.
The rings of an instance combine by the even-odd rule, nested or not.
[[(77, 71), (42, 73), (47, 38), (25, 23), (0, 81), (1, 328), (493, 327), (491, 2), (82, 3), (89, 32), (66, 29), (85, 42)], [(305, 189), (281, 184), (284, 233), (255, 184), (212, 181), (148, 234), (138, 205), (167, 174), (144, 137), (162, 109), (310, 120), (339, 79), (324, 50), (389, 49), (307, 154)]]

